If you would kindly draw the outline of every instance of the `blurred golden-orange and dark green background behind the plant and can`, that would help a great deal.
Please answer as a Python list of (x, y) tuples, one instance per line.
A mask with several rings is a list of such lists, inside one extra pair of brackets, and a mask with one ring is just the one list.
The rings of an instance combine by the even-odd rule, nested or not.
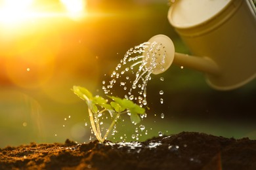
[[(157, 34), (171, 37), (177, 52), (189, 54), (167, 20), (167, 0), (6, 2), (0, 1), (0, 147), (88, 142), (87, 106), (72, 86), (102, 94), (104, 75), (123, 54)], [(203, 73), (172, 65), (148, 83), (150, 110), (141, 123), (148, 135), (139, 140), (159, 131), (256, 139), (255, 102), (255, 80), (219, 92), (205, 83)], [(131, 140), (135, 127), (129, 118), (118, 126), (118, 134)]]

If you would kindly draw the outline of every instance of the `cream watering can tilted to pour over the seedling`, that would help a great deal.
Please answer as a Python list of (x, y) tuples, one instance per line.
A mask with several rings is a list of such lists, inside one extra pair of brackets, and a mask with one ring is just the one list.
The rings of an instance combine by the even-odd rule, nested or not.
[[(156, 35), (148, 42), (165, 46), (164, 69), (172, 63), (205, 73), (217, 90), (232, 90), (256, 76), (256, 10), (252, 0), (176, 0), (168, 20), (192, 56), (175, 52), (173, 42)], [(160, 51), (161, 53), (161, 51)]]

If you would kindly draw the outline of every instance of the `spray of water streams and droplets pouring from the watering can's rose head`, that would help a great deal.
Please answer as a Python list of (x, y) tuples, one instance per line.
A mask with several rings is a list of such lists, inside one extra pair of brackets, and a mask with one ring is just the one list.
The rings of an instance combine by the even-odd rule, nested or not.
[[(116, 69), (112, 71), (110, 75), (112, 80), (109, 81), (109, 84), (105, 80), (102, 82), (102, 90), (105, 94), (113, 95), (114, 89), (119, 85), (125, 91), (126, 99), (136, 101), (140, 107), (147, 105), (146, 86), (156, 67), (164, 69), (165, 53), (165, 46), (158, 42), (144, 42), (130, 48), (117, 64)], [(133, 76), (135, 77), (133, 78)], [(117, 79), (120, 82), (117, 82)]]

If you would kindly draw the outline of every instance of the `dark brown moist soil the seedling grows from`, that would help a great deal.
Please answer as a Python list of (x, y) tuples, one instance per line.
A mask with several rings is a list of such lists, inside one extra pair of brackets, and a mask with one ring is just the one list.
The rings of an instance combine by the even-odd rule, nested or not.
[(256, 169), (256, 141), (182, 132), (142, 143), (36, 144), (0, 149), (0, 169)]

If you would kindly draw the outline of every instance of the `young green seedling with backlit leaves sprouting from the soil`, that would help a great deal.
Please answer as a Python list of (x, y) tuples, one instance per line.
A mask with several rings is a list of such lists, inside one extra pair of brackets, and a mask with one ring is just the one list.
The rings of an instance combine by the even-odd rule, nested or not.
[[(129, 99), (121, 99), (119, 97), (108, 95), (108, 97), (112, 100), (110, 101), (110, 103), (108, 103), (107, 99), (104, 99), (99, 95), (93, 96), (93, 94), (89, 92), (89, 90), (87, 90), (86, 88), (74, 86), (73, 91), (78, 97), (80, 97), (85, 101), (85, 103), (87, 103), (91, 127), (93, 129), (93, 132), (95, 133), (96, 139), (98, 139), (100, 143), (103, 143), (104, 140), (107, 139), (108, 134), (110, 133), (110, 131), (112, 131), (121, 114), (129, 113), (131, 122), (133, 124), (139, 124), (139, 114), (145, 113), (144, 108), (133, 103), (133, 101)], [(104, 137), (102, 137), (98, 118), (104, 113), (110, 114), (112, 118), (112, 123), (110, 124), (110, 127), (108, 127), (106, 134), (104, 134)]]

